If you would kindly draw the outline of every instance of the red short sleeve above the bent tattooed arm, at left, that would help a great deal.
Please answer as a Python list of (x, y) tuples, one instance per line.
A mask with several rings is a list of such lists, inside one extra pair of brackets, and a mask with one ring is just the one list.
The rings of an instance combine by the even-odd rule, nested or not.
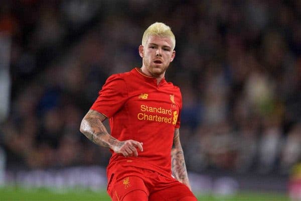
[(123, 107), (127, 98), (128, 93), (124, 79), (120, 74), (114, 74), (106, 80), (90, 109), (110, 118)]

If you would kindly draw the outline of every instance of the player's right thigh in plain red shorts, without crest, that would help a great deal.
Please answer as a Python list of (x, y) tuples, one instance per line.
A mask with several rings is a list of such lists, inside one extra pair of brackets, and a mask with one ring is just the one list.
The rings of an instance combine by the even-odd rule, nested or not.
[(149, 195), (149, 201), (196, 201), (197, 198), (183, 183), (178, 182)]

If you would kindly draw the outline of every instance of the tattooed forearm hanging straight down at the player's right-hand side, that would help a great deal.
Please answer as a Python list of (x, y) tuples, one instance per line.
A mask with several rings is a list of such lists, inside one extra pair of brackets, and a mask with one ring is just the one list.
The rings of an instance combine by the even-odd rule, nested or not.
[(184, 153), (180, 143), (179, 129), (175, 129), (173, 148), (171, 152), (172, 156), (172, 172), (178, 181), (184, 183), (191, 190), (191, 186), (188, 179), (187, 169), (185, 165)]

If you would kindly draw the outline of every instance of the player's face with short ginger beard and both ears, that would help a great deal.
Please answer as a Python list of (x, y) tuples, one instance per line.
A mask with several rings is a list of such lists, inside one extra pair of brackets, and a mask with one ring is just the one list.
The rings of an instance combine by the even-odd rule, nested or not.
[(142, 57), (142, 68), (153, 77), (163, 77), (176, 52), (172, 49), (169, 37), (149, 36), (144, 46), (140, 45), (139, 54)]

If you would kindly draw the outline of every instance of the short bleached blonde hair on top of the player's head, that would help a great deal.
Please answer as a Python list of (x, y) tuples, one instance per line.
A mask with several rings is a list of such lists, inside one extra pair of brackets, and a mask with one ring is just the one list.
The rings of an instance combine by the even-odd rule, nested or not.
[(161, 37), (169, 37), (172, 40), (172, 50), (175, 49), (176, 46), (176, 38), (171, 28), (164, 23), (156, 22), (150, 25), (143, 33), (142, 36), (142, 46), (145, 46), (145, 43), (149, 36), (161, 36)]

